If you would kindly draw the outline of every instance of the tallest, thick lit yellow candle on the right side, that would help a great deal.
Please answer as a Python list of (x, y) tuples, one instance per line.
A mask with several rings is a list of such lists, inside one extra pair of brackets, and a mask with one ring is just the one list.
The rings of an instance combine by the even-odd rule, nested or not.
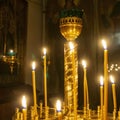
[(108, 50), (105, 40), (102, 40), (104, 47), (104, 120), (107, 120), (108, 112)]

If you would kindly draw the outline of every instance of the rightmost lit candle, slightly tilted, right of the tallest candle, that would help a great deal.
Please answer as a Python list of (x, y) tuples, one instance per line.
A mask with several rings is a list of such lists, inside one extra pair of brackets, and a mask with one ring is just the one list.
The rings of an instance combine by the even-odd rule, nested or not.
[(110, 80), (112, 83), (112, 94), (113, 94), (113, 105), (114, 105), (114, 111), (117, 109), (117, 102), (116, 102), (116, 85), (114, 82), (114, 77), (110, 75)]

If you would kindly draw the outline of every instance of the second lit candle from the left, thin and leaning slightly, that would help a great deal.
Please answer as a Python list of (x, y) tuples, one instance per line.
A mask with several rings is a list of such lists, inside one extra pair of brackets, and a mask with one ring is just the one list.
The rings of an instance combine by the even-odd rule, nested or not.
[(35, 113), (37, 112), (37, 100), (36, 100), (36, 81), (35, 81), (35, 62), (32, 62), (32, 85), (33, 85), (33, 101), (34, 101), (34, 109)]

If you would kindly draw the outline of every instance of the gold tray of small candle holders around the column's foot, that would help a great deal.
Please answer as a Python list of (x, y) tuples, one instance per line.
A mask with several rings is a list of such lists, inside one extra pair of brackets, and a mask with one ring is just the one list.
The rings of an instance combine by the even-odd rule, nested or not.
[[(74, 120), (74, 112), (73, 109), (70, 109), (68, 107), (63, 107), (60, 112), (56, 110), (56, 108), (47, 108), (47, 116), (48, 118), (45, 118), (45, 108), (43, 107), (43, 104), (40, 103), (39, 106), (37, 106), (37, 113), (35, 112), (34, 106), (31, 106), (30, 109), (27, 109), (27, 120)], [(118, 115), (117, 115), (118, 113)], [(104, 114), (104, 111), (103, 111)], [(23, 112), (20, 111), (19, 108), (16, 108), (15, 115), (13, 117), (13, 120), (24, 120), (23, 119)], [(109, 120), (120, 120), (120, 111), (113, 111), (113, 114), (108, 113)], [(97, 110), (89, 109), (87, 110), (86, 114), (84, 115), (84, 109), (83, 110), (77, 110), (77, 120), (103, 120), (101, 118), (101, 109), (100, 106), (98, 106)]]

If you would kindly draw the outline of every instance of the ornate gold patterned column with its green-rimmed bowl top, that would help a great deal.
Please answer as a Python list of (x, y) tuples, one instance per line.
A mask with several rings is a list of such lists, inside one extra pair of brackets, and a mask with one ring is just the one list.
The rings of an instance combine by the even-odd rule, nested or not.
[[(64, 92), (65, 106), (74, 114), (77, 120), (78, 96), (78, 58), (75, 39), (82, 29), (83, 11), (79, 9), (64, 9), (60, 13), (60, 32), (66, 38), (64, 44)], [(69, 43), (73, 44), (70, 48)]]

